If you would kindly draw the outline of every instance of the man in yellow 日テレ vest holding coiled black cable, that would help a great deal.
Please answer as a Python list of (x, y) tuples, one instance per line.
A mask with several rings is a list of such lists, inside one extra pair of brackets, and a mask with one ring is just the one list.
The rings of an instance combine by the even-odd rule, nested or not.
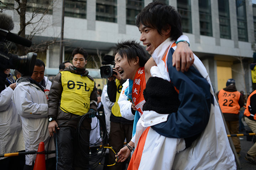
[(48, 96), (48, 130), (50, 136), (56, 133), (58, 170), (83, 169), (89, 164), (84, 153), (89, 154), (92, 119), (84, 118), (83, 127), (79, 131), (82, 138), (79, 141), (76, 129), (80, 115), (97, 111), (95, 81), (85, 69), (87, 52), (78, 47), (72, 52), (72, 57), (73, 66), (56, 75)]

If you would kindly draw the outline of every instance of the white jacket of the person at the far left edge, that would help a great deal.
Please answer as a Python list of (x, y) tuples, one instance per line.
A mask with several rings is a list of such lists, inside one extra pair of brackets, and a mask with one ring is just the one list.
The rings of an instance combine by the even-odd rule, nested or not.
[(0, 154), (25, 150), (20, 116), (11, 100), (12, 92), (11, 87), (7, 87), (0, 94)]

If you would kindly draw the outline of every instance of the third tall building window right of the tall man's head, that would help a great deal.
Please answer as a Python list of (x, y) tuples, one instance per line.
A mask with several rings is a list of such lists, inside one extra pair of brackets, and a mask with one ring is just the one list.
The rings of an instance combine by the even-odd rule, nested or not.
[(220, 38), (231, 39), (229, 0), (218, 0), (218, 5), (220, 21)]

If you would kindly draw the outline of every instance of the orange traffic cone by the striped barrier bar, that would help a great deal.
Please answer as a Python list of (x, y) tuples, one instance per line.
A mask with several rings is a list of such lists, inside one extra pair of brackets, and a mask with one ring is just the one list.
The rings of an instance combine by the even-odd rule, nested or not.
[(45, 151), (45, 143), (40, 142), (37, 152), (43, 152), (43, 153), (37, 153), (36, 162), (33, 170), (46, 170), (44, 151)]

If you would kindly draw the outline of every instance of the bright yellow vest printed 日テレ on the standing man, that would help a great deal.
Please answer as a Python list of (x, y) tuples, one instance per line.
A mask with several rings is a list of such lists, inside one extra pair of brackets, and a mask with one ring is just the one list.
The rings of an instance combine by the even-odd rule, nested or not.
[(90, 95), (94, 88), (94, 81), (87, 76), (81, 76), (69, 71), (60, 73), (63, 87), (61, 110), (66, 113), (84, 115), (90, 108)]

